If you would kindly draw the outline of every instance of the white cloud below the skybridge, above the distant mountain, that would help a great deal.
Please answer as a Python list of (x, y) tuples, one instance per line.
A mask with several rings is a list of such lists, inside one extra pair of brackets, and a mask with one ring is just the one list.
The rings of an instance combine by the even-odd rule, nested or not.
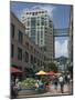
[(64, 40), (63, 43), (61, 43), (60, 41), (55, 41), (55, 57), (67, 57), (67, 40)]

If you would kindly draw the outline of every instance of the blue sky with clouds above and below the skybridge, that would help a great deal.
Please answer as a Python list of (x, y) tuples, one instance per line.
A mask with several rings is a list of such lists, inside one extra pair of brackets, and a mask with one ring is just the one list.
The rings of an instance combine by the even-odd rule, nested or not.
[[(11, 2), (10, 10), (20, 19), (23, 11), (33, 10), (35, 8), (47, 10), (50, 18), (53, 20), (55, 29), (68, 27), (69, 4), (51, 4), (51, 3), (33, 3), (33, 2)], [(55, 57), (68, 57), (67, 54), (67, 37), (55, 38)]]

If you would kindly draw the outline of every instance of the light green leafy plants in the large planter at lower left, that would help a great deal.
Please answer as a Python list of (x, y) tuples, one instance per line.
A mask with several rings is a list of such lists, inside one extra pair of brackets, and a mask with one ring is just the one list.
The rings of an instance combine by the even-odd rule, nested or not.
[(24, 89), (31, 89), (34, 88), (35, 86), (35, 80), (32, 78), (26, 78), (25, 80), (22, 81), (21, 83), (22, 88)]

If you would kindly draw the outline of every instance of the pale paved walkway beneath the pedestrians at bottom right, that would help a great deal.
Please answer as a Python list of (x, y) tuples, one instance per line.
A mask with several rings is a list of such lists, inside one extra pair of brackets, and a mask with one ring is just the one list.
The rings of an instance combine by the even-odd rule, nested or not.
[(61, 93), (60, 84), (57, 88), (57, 91), (54, 89), (54, 86), (52, 84), (50, 88), (50, 91), (46, 93), (40, 93), (40, 94), (33, 94), (33, 96), (19, 96), (18, 98), (32, 98), (32, 97), (49, 97), (49, 96), (65, 96), (68, 93), (67, 84), (64, 84), (64, 93)]

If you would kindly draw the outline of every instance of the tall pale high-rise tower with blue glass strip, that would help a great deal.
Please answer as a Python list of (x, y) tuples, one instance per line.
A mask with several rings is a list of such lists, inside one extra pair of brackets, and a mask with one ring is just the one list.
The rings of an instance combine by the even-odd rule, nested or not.
[(47, 11), (42, 9), (25, 11), (21, 21), (25, 26), (25, 34), (44, 50), (50, 60), (53, 60), (53, 22)]

